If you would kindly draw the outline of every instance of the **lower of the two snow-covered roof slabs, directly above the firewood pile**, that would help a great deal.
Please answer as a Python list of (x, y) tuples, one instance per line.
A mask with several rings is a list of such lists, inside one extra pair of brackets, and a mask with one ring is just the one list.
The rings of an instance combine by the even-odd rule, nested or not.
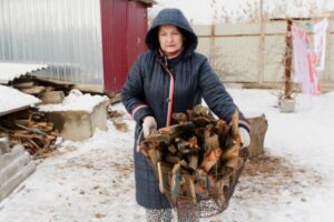
[(41, 102), (38, 98), (0, 84), (0, 117)]

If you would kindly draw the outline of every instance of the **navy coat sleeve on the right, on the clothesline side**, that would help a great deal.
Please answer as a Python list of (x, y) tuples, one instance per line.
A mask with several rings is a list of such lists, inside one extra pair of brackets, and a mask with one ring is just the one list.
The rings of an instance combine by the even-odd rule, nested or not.
[[(203, 62), (199, 72), (199, 89), (203, 99), (219, 119), (229, 122), (238, 108), (207, 60)], [(239, 112), (239, 127), (249, 132), (249, 123), (242, 112)]]

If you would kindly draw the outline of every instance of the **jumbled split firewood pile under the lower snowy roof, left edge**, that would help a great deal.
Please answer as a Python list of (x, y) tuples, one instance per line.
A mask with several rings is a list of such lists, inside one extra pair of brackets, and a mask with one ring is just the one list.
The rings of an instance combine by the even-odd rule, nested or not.
[(35, 158), (48, 157), (59, 135), (43, 113), (29, 109), (0, 119), (0, 133), (10, 139), (10, 147), (22, 144)]

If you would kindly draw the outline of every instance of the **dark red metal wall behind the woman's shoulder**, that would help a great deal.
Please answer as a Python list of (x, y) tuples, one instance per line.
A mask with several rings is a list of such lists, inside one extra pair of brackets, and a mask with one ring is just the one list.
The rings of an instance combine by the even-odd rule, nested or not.
[(100, 0), (105, 89), (119, 92), (129, 68), (145, 50), (145, 4), (128, 0)]

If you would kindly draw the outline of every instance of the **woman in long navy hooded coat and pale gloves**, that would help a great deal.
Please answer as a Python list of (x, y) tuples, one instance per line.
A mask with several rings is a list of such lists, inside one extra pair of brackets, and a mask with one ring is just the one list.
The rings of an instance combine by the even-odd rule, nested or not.
[[(161, 10), (147, 32), (146, 44), (148, 50), (138, 57), (129, 71), (121, 101), (137, 123), (134, 149), (137, 202), (146, 208), (147, 221), (170, 221), (168, 200), (159, 192), (151, 167), (137, 151), (141, 135), (173, 124), (173, 112), (194, 109), (202, 99), (227, 122), (237, 107), (207, 58), (195, 52), (197, 36), (180, 10)], [(240, 113), (243, 147), (250, 142), (248, 132), (248, 122)], [(178, 220), (187, 221), (181, 215)]]

